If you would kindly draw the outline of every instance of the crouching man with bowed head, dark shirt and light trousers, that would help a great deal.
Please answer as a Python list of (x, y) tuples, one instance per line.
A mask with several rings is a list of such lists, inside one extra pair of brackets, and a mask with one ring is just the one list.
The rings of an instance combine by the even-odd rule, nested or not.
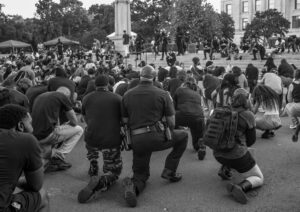
[(33, 134), (43, 149), (43, 158), (49, 160), (45, 172), (71, 168), (65, 157), (83, 134), (83, 129), (77, 125), (70, 96), (68, 88), (60, 87), (57, 91), (39, 95), (33, 105)]

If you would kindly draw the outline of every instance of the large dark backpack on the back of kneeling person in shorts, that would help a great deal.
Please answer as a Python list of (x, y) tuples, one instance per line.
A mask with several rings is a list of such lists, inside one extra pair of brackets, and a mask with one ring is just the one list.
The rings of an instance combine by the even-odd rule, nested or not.
[(239, 112), (231, 107), (214, 109), (207, 122), (204, 144), (213, 150), (228, 151), (236, 145)]

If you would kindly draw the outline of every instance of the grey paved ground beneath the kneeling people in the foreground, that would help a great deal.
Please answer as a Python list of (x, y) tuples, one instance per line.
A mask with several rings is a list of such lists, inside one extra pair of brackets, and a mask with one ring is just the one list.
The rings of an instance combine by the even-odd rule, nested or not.
[[(164, 159), (169, 151), (154, 153), (151, 159), (151, 177), (145, 192), (138, 198), (135, 209), (126, 207), (121, 181), (97, 200), (88, 204), (77, 203), (77, 193), (89, 180), (84, 141), (76, 146), (67, 160), (73, 167), (65, 172), (48, 174), (46, 188), (50, 192), (51, 211), (54, 212), (99, 212), (99, 211), (300, 211), (300, 142), (291, 141), (292, 130), (288, 118), (283, 118), (284, 127), (270, 140), (258, 138), (255, 158), (265, 176), (265, 186), (250, 193), (247, 205), (234, 202), (227, 195), (226, 182), (217, 176), (219, 164), (211, 151), (204, 161), (198, 161), (191, 142), (179, 166), (183, 180), (170, 184), (160, 178)], [(261, 132), (257, 131), (260, 137)], [(132, 153), (123, 152), (124, 170), (121, 178), (131, 175)], [(239, 175), (234, 175), (239, 180)]]

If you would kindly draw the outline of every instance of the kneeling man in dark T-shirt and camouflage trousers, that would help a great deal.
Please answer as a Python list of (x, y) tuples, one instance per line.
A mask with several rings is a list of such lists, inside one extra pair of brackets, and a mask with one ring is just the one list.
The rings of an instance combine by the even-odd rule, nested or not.
[[(78, 202), (86, 203), (98, 192), (107, 191), (121, 174), (121, 97), (108, 90), (109, 78), (96, 78), (96, 91), (83, 99), (82, 115), (86, 121), (85, 142), (90, 161), (90, 181), (78, 194)], [(98, 176), (99, 152), (103, 155), (103, 175)]]

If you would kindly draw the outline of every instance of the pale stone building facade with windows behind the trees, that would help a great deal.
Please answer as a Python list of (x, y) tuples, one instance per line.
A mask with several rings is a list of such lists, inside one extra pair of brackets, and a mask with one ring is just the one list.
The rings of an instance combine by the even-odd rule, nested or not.
[(240, 43), (255, 13), (268, 9), (277, 9), (291, 22), (288, 35), (300, 36), (300, 0), (221, 0), (221, 11), (231, 15), (235, 23), (235, 43)]

